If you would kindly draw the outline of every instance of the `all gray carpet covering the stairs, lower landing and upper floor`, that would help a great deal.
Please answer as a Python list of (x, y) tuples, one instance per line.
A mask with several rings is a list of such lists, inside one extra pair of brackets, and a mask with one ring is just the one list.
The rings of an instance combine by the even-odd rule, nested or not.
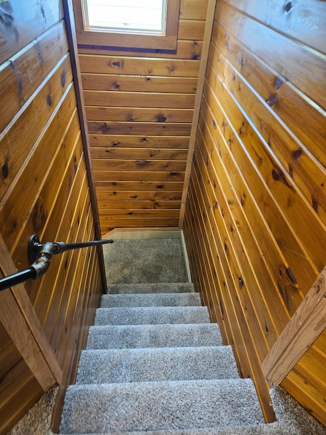
[[(326, 433), (280, 387), (270, 391), (278, 421), (264, 424), (251, 379), (239, 377), (232, 348), (223, 346), (218, 325), (185, 283), (178, 239), (118, 242), (124, 243), (105, 251), (111, 284), (67, 391), (62, 434)], [(51, 433), (44, 406), (49, 415), (52, 402), (53, 390), (11, 435)]]

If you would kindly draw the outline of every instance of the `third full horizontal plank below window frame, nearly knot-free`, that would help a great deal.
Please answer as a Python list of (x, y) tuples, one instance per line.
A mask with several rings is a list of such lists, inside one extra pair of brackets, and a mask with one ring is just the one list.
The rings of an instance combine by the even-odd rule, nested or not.
[(84, 91), (86, 106), (192, 109), (194, 94)]

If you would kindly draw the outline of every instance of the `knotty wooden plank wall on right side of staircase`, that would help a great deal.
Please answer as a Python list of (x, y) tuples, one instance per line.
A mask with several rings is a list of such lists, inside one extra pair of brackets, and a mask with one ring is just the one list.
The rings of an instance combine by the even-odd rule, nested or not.
[[(326, 4), (218, 0), (186, 202), (197, 291), (274, 419), (261, 363), (326, 264)], [(282, 385), (326, 424), (326, 332)]]

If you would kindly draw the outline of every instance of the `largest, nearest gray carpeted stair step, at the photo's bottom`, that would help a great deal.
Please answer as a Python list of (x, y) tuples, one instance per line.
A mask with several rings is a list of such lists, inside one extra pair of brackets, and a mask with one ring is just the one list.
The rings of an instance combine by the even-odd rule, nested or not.
[(73, 385), (61, 432), (195, 429), (263, 423), (251, 379)]

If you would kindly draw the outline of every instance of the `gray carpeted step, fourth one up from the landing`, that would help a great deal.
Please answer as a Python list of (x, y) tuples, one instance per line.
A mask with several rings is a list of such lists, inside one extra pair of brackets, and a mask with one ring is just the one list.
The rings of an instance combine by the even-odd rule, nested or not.
[(91, 326), (87, 349), (222, 346), (216, 323)]

